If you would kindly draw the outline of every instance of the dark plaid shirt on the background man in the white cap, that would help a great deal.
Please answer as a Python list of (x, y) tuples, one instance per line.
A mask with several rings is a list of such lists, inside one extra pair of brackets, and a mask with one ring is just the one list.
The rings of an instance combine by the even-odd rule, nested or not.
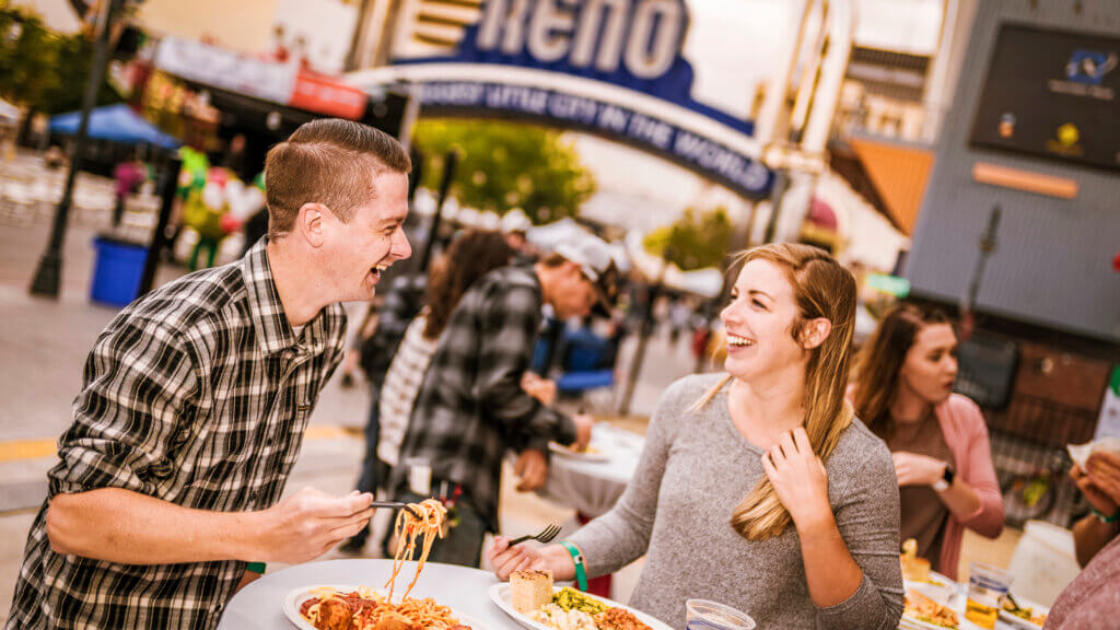
[(478, 279), (439, 337), (417, 396), (390, 488), (405, 489), (409, 457), (426, 457), (432, 478), (458, 483), (497, 531), (498, 483), (506, 448), (576, 441), (571, 418), (521, 388), (541, 325), (541, 284), (532, 268), (505, 267)]

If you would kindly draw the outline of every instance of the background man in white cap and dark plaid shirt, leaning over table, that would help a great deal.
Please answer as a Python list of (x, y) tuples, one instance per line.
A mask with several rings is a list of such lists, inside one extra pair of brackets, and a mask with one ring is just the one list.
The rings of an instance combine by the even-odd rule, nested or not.
[[(483, 538), (497, 531), (498, 484), (507, 448), (522, 452), (519, 473), (547, 474), (548, 443), (586, 446), (591, 419), (569, 418), (522, 387), (541, 325), (541, 307), (557, 318), (584, 317), (614, 298), (617, 270), (605, 242), (564, 243), (533, 267), (483, 276), (463, 296), (439, 337), (389, 488), (409, 500), (454, 488), (457, 525), (437, 540), (429, 559), (477, 566)], [(410, 470), (422, 458), (431, 470)], [(427, 483), (426, 483), (427, 482)]]

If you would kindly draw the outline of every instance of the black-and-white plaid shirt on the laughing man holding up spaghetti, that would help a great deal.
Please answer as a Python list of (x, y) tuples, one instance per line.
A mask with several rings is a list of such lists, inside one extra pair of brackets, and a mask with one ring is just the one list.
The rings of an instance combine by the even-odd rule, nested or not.
[(222, 512), (280, 499), (342, 359), (346, 315), (328, 306), (297, 341), (265, 242), (133, 303), (97, 339), (28, 535), (9, 630), (217, 626), (244, 562), (137, 566), (59, 555), (45, 517), (52, 498), (101, 488)]

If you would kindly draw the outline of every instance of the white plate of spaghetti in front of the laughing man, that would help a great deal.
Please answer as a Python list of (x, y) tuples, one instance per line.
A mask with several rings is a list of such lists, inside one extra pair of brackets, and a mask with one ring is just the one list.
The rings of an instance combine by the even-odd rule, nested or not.
[(383, 619), (396, 621), (388, 628), (402, 630), (484, 630), (469, 617), (431, 597), (392, 603), (384, 593), (368, 586), (300, 586), (284, 597), (283, 613), (301, 630), (375, 630)]

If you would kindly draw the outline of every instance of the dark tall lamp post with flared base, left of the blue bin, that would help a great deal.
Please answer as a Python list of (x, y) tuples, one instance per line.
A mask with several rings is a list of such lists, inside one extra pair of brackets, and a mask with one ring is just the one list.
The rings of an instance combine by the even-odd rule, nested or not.
[(109, 57), (109, 36), (112, 13), (120, 0), (109, 0), (102, 3), (97, 15), (97, 40), (94, 47), (93, 65), (90, 67), (90, 82), (85, 86), (85, 99), (82, 101), (82, 120), (78, 123), (77, 136), (74, 137), (74, 152), (71, 157), (69, 173), (66, 175), (66, 188), (63, 200), (55, 211), (55, 221), (50, 229), (50, 242), (39, 259), (31, 281), (31, 294), (44, 297), (58, 297), (58, 285), (63, 268), (63, 240), (66, 238), (66, 223), (69, 220), (69, 209), (74, 196), (74, 179), (82, 165), (82, 154), (85, 151), (86, 132), (90, 128), (90, 112), (97, 100), (97, 89), (105, 76), (105, 59)]

